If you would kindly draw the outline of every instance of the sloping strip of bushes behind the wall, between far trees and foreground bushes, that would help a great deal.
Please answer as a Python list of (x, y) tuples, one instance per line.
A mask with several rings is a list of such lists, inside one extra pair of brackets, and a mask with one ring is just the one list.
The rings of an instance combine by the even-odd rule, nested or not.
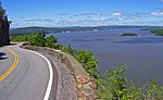
[(91, 52), (86, 50), (75, 50), (71, 46), (64, 47), (59, 46), (60, 50), (73, 55), (79, 63), (83, 64), (84, 68), (89, 73), (90, 76), (97, 78), (98, 76), (98, 60), (93, 57)]

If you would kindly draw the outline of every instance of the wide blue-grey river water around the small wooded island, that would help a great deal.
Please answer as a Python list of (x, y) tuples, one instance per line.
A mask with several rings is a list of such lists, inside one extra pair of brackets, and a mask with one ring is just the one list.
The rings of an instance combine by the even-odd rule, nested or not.
[[(137, 33), (138, 37), (122, 37), (123, 33)], [(163, 85), (163, 37), (140, 28), (117, 28), (101, 32), (49, 34), (62, 45), (91, 51), (99, 61), (101, 72), (126, 64), (125, 77), (140, 85), (155, 79)]]

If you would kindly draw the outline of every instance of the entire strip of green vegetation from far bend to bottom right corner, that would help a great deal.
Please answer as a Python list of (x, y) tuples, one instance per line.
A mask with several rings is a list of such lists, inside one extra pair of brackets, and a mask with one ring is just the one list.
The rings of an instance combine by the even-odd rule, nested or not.
[(32, 46), (60, 49), (72, 54), (83, 64), (90, 76), (96, 79), (100, 100), (163, 100), (163, 87), (156, 84), (156, 82), (150, 80), (140, 87), (136, 87), (134, 82), (124, 78), (125, 65), (100, 74), (98, 60), (91, 52), (75, 50), (71, 46), (59, 45), (57, 37), (46, 37), (43, 32), (11, 37), (11, 40), (27, 41)]

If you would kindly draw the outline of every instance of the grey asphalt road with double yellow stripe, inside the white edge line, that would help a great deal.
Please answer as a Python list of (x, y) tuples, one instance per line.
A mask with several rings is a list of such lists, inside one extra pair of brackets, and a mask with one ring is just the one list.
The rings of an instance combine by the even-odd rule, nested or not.
[(48, 63), (18, 46), (0, 47), (0, 100), (43, 100)]

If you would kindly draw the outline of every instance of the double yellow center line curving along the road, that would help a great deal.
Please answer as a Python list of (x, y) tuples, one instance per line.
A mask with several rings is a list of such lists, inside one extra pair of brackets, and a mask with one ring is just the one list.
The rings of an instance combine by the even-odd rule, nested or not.
[(7, 50), (14, 55), (15, 60), (14, 60), (14, 63), (11, 65), (11, 67), (0, 76), (0, 82), (7, 78), (18, 64), (18, 55), (13, 50), (10, 50), (9, 48), (7, 48)]

